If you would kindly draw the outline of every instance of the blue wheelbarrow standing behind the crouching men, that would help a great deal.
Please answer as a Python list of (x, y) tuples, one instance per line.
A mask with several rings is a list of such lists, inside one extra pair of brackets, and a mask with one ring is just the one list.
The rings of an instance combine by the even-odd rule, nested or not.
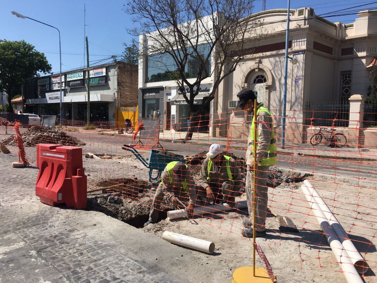
[[(133, 148), (130, 145), (123, 145), (122, 149), (127, 150), (132, 152), (138, 160), (143, 163), (143, 165), (149, 169), (149, 181), (154, 183), (158, 183), (160, 181), (161, 173), (164, 171), (167, 163), (170, 163), (172, 161), (179, 161), (182, 163), (186, 162), (186, 158), (183, 155), (179, 155), (180, 157), (173, 157), (170, 155), (165, 155), (165, 154), (159, 154), (160, 151), (156, 149), (151, 149), (150, 150), (150, 155), (149, 155), (149, 163), (144, 159), (139, 152)], [(152, 172), (154, 170), (157, 170), (157, 176), (152, 177)]]

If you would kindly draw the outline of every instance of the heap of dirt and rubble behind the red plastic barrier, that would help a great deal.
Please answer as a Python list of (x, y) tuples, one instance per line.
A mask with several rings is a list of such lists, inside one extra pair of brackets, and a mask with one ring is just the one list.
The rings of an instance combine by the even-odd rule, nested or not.
[[(52, 129), (48, 126), (32, 126), (22, 135), (24, 146), (35, 147), (38, 143), (54, 143), (64, 146), (84, 146), (85, 143), (78, 140), (61, 129)], [(4, 145), (17, 146), (14, 136), (3, 139)]]

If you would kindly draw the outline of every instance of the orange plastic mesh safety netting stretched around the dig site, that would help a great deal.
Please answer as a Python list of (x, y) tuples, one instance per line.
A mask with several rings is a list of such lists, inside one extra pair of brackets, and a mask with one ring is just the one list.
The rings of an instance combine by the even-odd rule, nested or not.
[[(287, 111), (283, 147), (282, 110), (271, 109), (270, 112), (274, 120), (277, 164), (258, 169), (257, 184), (260, 188), (267, 186), (268, 193), (257, 194), (257, 209), (267, 213), (266, 218), (261, 213), (258, 222), (261, 223), (258, 230), (265, 230), (267, 235), (257, 238), (257, 243), (274, 273), (283, 282), (322, 279), (335, 283), (344, 282), (344, 275), (353, 272), (344, 270), (346, 263), (342, 265), (343, 270), (339, 266), (339, 258), (334, 256), (325, 237), (328, 234), (326, 225), (321, 225), (316, 218), (316, 203), (308, 201), (301, 189), (306, 179), (370, 267), (360, 275), (366, 282), (376, 282), (373, 270), (377, 268), (377, 128), (364, 127), (364, 124), (370, 126), (374, 123), (373, 113), (367, 112), (371, 115), (368, 121), (364, 121), (363, 118), (345, 119), (338, 112), (312, 111), (309, 115), (305, 111)], [(357, 115), (359, 113), (349, 113), (349, 117)], [(135, 140), (135, 132), (118, 131), (123, 125), (115, 122), (91, 122), (94, 129), (84, 129), (84, 121), (61, 122), (61, 129), (21, 125), (25, 152), (30, 164), (35, 165), (37, 143), (82, 147), (88, 190), (103, 189), (88, 195), (89, 209), (105, 211), (155, 235), (161, 236), (164, 230), (169, 230), (215, 241), (221, 265), (237, 268), (251, 264), (252, 238), (245, 237), (249, 223), (244, 221), (250, 220), (247, 206), (252, 206), (247, 197), (248, 159), (245, 156), (251, 117), (245, 117), (242, 111), (193, 117), (191, 138), (187, 137), (187, 123), (178, 123), (175, 131), (169, 128), (170, 120), (158, 121), (159, 130), (153, 128), (158, 131), (157, 135), (150, 129), (142, 129), (138, 137), (135, 135)], [(173, 128), (173, 123), (170, 127)], [(2, 120), (0, 141), (11, 154), (18, 151), (14, 135), (9, 127), (5, 132)], [(124, 145), (135, 145), (138, 140), (142, 145), (135, 146), (137, 156), (125, 150), (128, 147)], [(156, 148), (157, 141), (163, 149)], [(217, 161), (214, 157), (208, 168), (205, 155), (212, 144), (221, 145), (222, 154), (232, 158), (230, 174), (233, 180), (229, 180), (225, 159)], [(160, 163), (164, 168), (172, 160), (184, 161), (188, 165), (187, 172), (182, 168), (178, 170), (181, 178), (187, 181), (187, 188), (182, 188), (180, 181), (175, 182), (179, 179), (175, 173), (166, 188), (150, 181), (150, 177), (158, 180)], [(170, 183), (169, 174), (160, 173), (165, 182)], [(189, 206), (189, 210), (195, 208), (198, 211), (189, 220), (185, 217), (165, 220), (168, 211), (182, 208), (178, 201), (173, 201), (174, 197)], [(152, 215), (157, 223), (143, 228), (144, 222), (149, 220), (153, 200), (159, 204)], [(225, 202), (238, 209), (224, 212), (221, 204)], [(210, 213), (200, 212), (204, 207), (216, 204), (220, 205)], [(299, 233), (286, 232), (284, 228), (279, 230), (282, 226), (279, 220), (287, 222), (287, 218), (293, 221)], [(344, 240), (340, 239), (340, 242)], [(264, 266), (264, 263), (258, 259), (257, 265)]]

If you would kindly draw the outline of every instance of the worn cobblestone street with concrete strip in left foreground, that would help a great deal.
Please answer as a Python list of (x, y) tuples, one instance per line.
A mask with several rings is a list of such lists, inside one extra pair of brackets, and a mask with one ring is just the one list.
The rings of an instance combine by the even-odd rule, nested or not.
[(17, 157), (1, 157), (1, 283), (226, 280), (190, 251), (101, 212), (44, 205), (35, 196), (38, 168), (14, 169)]

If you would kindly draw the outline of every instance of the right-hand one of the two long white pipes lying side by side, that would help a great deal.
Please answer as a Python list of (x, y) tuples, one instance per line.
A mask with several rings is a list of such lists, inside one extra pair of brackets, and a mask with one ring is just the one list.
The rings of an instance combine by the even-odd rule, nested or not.
[(348, 235), (344, 231), (342, 225), (340, 225), (339, 221), (336, 219), (333, 212), (330, 211), (325, 201), (323, 201), (322, 197), (319, 195), (317, 190), (314, 189), (314, 187), (311, 185), (311, 183), (308, 180), (304, 181), (304, 185), (307, 186), (307, 188), (310, 191), (310, 194), (314, 197), (314, 200), (316, 200), (316, 203), (318, 204), (319, 208), (322, 210), (323, 214), (327, 218), (331, 227), (334, 229), (335, 234), (337, 235), (340, 242), (342, 243), (342, 246), (345, 248), (357, 272), (359, 272), (360, 274), (363, 274), (364, 272), (366, 272), (368, 270), (368, 265), (366, 261), (364, 260), (362, 255), (359, 253), (359, 251), (357, 251), (352, 241), (349, 240)]

